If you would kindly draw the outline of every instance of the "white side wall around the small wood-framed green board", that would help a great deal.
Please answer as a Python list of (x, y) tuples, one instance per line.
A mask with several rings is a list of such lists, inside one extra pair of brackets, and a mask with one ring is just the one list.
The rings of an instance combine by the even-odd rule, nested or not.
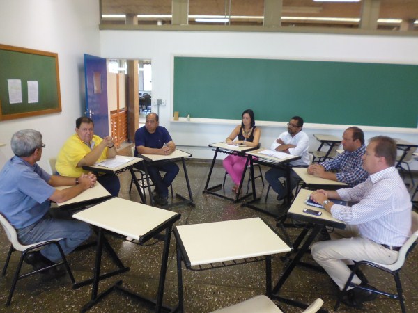
[(98, 0), (0, 0), (0, 43), (58, 54), (61, 113), (0, 121), (0, 168), (13, 156), (10, 138), (19, 129), (33, 128), (46, 147), (40, 166), (55, 157), (75, 119), (84, 113), (83, 54), (100, 55)]

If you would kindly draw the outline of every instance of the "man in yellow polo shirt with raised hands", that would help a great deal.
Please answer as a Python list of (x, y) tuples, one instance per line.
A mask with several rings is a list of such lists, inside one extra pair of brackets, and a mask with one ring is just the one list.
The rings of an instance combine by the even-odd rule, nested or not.
[[(67, 141), (56, 159), (56, 172), (61, 176), (80, 177), (83, 166), (92, 166), (107, 158), (116, 156), (116, 147), (111, 136), (103, 139), (94, 134), (94, 123), (91, 118), (77, 118), (75, 121), (75, 134)], [(98, 182), (114, 197), (118, 196), (121, 184), (114, 173), (98, 176)]]

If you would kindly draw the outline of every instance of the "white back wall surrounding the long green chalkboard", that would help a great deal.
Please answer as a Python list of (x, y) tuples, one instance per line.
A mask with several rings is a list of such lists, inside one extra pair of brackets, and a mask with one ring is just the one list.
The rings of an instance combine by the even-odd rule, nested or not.
[[(160, 107), (160, 125), (167, 127), (173, 140), (178, 145), (185, 145), (184, 148), (192, 152), (194, 157), (208, 159), (211, 159), (213, 155), (207, 147), (208, 143), (224, 141), (233, 126), (240, 123), (242, 112), (237, 112), (237, 120), (206, 121), (192, 117), (192, 122), (172, 122), (173, 56), (418, 64), (417, 37), (304, 33), (100, 31), (100, 42), (101, 55), (104, 58), (151, 59), (153, 99), (167, 100), (167, 105)], [(251, 107), (251, 104), (248, 106)], [(155, 106), (153, 106), (153, 111), (157, 111)], [(378, 114), (378, 108), (376, 108), (376, 114)], [(262, 127), (261, 141), (264, 146), (270, 145), (281, 131), (286, 130), (285, 122), (288, 117), (277, 118), (280, 122), (257, 122), (257, 125)], [(370, 118), (373, 119), (373, 116)], [(307, 131), (312, 138), (311, 150), (316, 150), (319, 144), (313, 138), (313, 134), (342, 136), (343, 129), (348, 126), (352, 125), (307, 124), (304, 131)], [(362, 129), (365, 131), (366, 138), (386, 134), (418, 143), (418, 129), (393, 127), (362, 127)], [(187, 145), (202, 147), (187, 147)]]

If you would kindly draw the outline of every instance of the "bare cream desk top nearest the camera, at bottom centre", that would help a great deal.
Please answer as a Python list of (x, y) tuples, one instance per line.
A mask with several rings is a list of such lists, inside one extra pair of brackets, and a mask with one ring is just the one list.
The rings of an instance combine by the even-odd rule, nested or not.
[(190, 265), (289, 252), (261, 218), (176, 226)]

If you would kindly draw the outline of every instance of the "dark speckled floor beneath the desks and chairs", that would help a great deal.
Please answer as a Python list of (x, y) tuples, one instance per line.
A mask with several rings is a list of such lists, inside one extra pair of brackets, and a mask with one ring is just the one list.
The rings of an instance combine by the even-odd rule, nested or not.
[[(203, 195), (202, 190), (206, 182), (208, 170), (209, 163), (187, 161), (187, 171), (196, 207), (174, 207), (173, 211), (181, 214), (178, 225), (262, 216), (270, 225), (275, 227), (274, 218), (266, 214), (242, 208), (240, 204), (233, 204), (213, 195)], [(263, 168), (263, 170), (266, 169)], [(212, 174), (212, 182), (222, 182), (223, 177), (224, 170), (222, 166), (217, 165)], [(134, 191), (131, 194), (128, 193), (129, 172), (124, 172), (120, 179), (122, 186), (120, 197), (138, 201), (139, 196)], [(226, 186), (225, 193), (232, 195), (230, 191), (232, 183), (229, 177), (226, 179)], [(265, 194), (266, 188), (261, 188), (259, 180), (257, 180), (257, 186), (257, 192), (261, 193), (263, 191)], [(181, 169), (179, 176), (173, 183), (173, 188), (175, 193), (187, 193), (183, 170)], [(271, 193), (265, 207), (272, 211), (277, 210), (275, 201), (274, 194)], [(288, 234), (293, 240), (300, 231), (297, 228), (289, 228)], [(3, 230), (1, 230), (0, 236), (0, 264), (3, 266), (9, 243)], [(130, 271), (123, 273), (117, 278), (102, 280), (100, 282), (100, 290), (108, 287), (118, 279), (122, 279), (123, 286), (128, 289), (154, 297), (160, 270), (162, 243), (155, 243), (155, 241), (151, 240), (150, 244), (155, 243), (154, 245), (137, 246), (112, 236), (108, 236), (108, 238), (125, 265), (130, 266)], [(401, 271), (408, 312), (418, 312), (417, 256), (418, 249), (415, 249), (408, 257), (408, 262), (405, 264), (403, 271)], [(94, 248), (76, 251), (68, 257), (77, 281), (91, 277), (94, 257)], [(15, 253), (6, 277), (0, 279), (0, 312), (79, 312), (82, 305), (90, 300), (91, 286), (72, 290), (70, 280), (67, 277), (59, 280), (46, 280), (42, 275), (35, 275), (18, 282), (12, 304), (6, 309), (3, 303), (6, 303), (17, 259), (17, 254)], [(314, 263), (310, 255), (306, 255), (304, 259), (307, 262)], [(284, 262), (281, 261), (279, 256), (273, 257), (273, 283), (277, 282), (283, 266)], [(110, 262), (106, 254), (104, 254), (103, 268), (104, 271), (114, 268), (114, 264)], [(389, 275), (383, 275), (372, 268), (366, 268), (364, 273), (374, 286), (385, 287), (391, 291), (395, 290), (394, 282)], [(256, 262), (201, 272), (184, 270), (183, 280), (185, 312), (210, 312), (226, 305), (238, 303), (252, 296), (263, 294), (265, 292), (265, 264), (264, 262)], [(332, 311), (336, 300), (336, 288), (325, 273), (318, 273), (298, 266), (286, 284), (284, 284), (280, 295), (301, 300), (305, 303), (310, 303), (316, 298), (322, 298), (325, 302), (325, 309)], [(176, 250), (172, 236), (164, 304), (173, 306), (176, 305), (177, 300)], [(281, 306), (286, 312), (302, 312), (302, 310), (295, 307)], [(341, 305), (339, 311), (400, 312), (400, 306), (396, 300), (389, 300), (379, 296), (373, 302), (366, 303), (362, 310), (353, 310)], [(114, 293), (102, 300), (91, 312), (152, 312), (152, 308), (122, 294)]]

